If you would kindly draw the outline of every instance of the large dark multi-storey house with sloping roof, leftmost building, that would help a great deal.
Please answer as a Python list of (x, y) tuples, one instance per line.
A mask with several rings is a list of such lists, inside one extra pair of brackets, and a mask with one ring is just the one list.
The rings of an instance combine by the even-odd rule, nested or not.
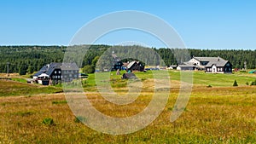
[(73, 79), (79, 78), (79, 67), (76, 63), (50, 63), (43, 66), (33, 79), (40, 82), (42, 80), (52, 83), (71, 82)]

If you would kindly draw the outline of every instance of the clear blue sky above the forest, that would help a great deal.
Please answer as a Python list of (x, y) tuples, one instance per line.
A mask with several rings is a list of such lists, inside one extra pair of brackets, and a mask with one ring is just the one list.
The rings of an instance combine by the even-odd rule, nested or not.
[[(189, 48), (255, 49), (255, 8), (253, 0), (3, 0), (0, 45), (68, 45), (79, 28), (102, 14), (139, 10), (166, 20)], [(97, 43), (163, 46), (140, 32), (127, 33), (115, 32)]]

